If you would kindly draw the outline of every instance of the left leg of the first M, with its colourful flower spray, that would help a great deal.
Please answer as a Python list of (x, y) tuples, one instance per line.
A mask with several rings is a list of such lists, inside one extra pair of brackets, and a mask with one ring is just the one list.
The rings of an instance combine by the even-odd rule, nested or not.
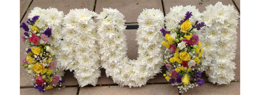
[[(33, 12), (40, 16), (33, 14)], [(56, 68), (56, 62), (54, 61), (55, 52), (51, 47), (55, 46), (55, 44), (53, 45), (54, 42), (50, 42), (57, 35), (52, 37), (55, 34), (53, 33), (53, 29), (51, 27), (46, 28), (46, 26), (55, 26), (54, 28), (61, 27), (61, 20), (60, 22), (55, 22), (60, 18), (52, 21), (51, 16), (55, 15), (54, 13), (59, 13), (59, 11), (56, 8), (45, 10), (36, 7), (28, 16), (29, 19), (26, 22), (28, 25), (24, 22), (20, 25), (25, 30), (25, 33), (20, 35), (21, 40), (24, 43), (29, 43), (30, 47), (26, 49), (26, 58), (22, 58), (22, 66), (26, 68), (30, 76), (32, 75), (34, 77), (32, 79), (36, 80), (34, 88), (40, 92), (45, 92), (45, 90), (56, 87), (58, 83), (64, 82), (62, 79), (64, 72)], [(60, 14), (63, 14), (63, 12), (60, 12)]]

